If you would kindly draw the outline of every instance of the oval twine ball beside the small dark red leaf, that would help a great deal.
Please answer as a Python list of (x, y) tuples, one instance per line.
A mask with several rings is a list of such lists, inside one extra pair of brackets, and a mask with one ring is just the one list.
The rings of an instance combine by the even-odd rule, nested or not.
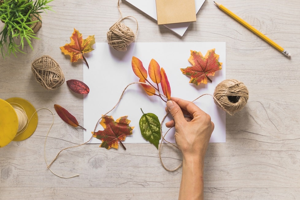
[(48, 90), (58, 88), (65, 81), (60, 65), (50, 56), (42, 56), (34, 60), (31, 70), (37, 83)]

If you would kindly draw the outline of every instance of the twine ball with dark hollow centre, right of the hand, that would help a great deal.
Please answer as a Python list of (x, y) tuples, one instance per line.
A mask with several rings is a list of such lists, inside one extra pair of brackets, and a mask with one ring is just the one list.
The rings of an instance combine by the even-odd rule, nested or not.
[(213, 96), (215, 104), (233, 115), (246, 105), (249, 93), (244, 83), (235, 79), (226, 79), (217, 85)]

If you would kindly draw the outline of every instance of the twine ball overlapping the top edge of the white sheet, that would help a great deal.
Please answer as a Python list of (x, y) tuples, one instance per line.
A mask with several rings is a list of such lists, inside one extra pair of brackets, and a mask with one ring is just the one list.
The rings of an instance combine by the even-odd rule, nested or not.
[(122, 23), (116, 23), (107, 32), (108, 44), (117, 51), (126, 51), (134, 39), (133, 31)]

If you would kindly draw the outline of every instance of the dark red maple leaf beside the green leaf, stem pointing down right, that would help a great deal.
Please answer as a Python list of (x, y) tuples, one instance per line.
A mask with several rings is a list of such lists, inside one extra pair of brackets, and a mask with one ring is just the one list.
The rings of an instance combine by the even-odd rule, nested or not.
[(132, 130), (134, 127), (129, 126), (130, 120), (127, 119), (127, 116), (123, 116), (114, 121), (112, 116), (104, 115), (100, 124), (104, 128), (103, 131), (99, 130), (97, 132), (92, 132), (93, 137), (101, 140), (102, 143), (100, 147), (106, 149), (118, 148), (118, 143), (126, 150), (124, 144), (121, 141), (125, 140), (125, 137), (132, 135)]

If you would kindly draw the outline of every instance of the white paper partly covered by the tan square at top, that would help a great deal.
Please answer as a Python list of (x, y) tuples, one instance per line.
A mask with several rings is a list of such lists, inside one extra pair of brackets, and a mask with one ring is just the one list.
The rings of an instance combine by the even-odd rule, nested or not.
[[(143, 11), (153, 19), (157, 21), (157, 14), (156, 14), (156, 3), (155, 0), (125, 0), (132, 4), (133, 6), (137, 7), (139, 10)], [(196, 14), (200, 10), (201, 6), (205, 0), (195, 0), (195, 8)], [(175, 24), (166, 24), (164, 25), (174, 33), (178, 34), (179, 36), (183, 36), (186, 32), (187, 28), (189, 27), (191, 22), (183, 22), (183, 23), (175, 23)]]

